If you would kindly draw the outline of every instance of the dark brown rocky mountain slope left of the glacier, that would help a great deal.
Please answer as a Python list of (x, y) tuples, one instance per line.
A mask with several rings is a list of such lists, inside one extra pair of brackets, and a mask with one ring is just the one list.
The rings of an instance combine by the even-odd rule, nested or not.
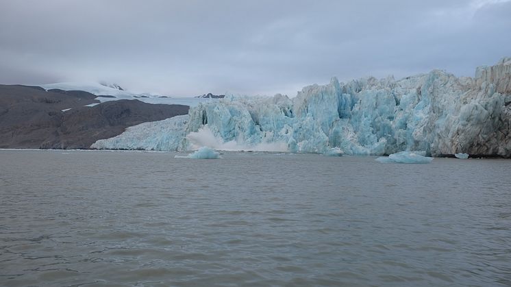
[[(99, 103), (95, 98), (84, 91), (0, 85), (0, 148), (88, 149), (126, 127), (187, 114), (189, 109), (138, 100)], [(98, 104), (85, 106), (91, 103)]]

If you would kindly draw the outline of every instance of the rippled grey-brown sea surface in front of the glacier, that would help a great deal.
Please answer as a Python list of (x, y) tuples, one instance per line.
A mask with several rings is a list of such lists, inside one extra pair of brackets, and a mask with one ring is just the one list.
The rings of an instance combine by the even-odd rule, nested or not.
[(511, 286), (511, 160), (176, 154), (0, 151), (0, 285)]

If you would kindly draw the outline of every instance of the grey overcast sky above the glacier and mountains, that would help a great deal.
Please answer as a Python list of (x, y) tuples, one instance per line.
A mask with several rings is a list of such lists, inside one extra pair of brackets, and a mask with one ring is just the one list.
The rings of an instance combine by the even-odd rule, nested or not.
[(511, 56), (510, 0), (0, 0), (0, 83), (294, 97)]

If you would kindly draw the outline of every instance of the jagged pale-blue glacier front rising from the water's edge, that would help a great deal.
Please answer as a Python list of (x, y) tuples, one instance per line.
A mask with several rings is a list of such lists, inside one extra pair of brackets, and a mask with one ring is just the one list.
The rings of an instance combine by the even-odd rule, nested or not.
[(227, 150), (325, 154), (338, 148), (346, 155), (423, 151), (510, 158), (510, 130), (511, 58), (503, 58), (478, 67), (475, 77), (441, 70), (398, 80), (342, 83), (334, 77), (292, 99), (231, 95), (198, 103), (179, 123), (131, 127), (92, 148), (182, 151), (212, 143)]

